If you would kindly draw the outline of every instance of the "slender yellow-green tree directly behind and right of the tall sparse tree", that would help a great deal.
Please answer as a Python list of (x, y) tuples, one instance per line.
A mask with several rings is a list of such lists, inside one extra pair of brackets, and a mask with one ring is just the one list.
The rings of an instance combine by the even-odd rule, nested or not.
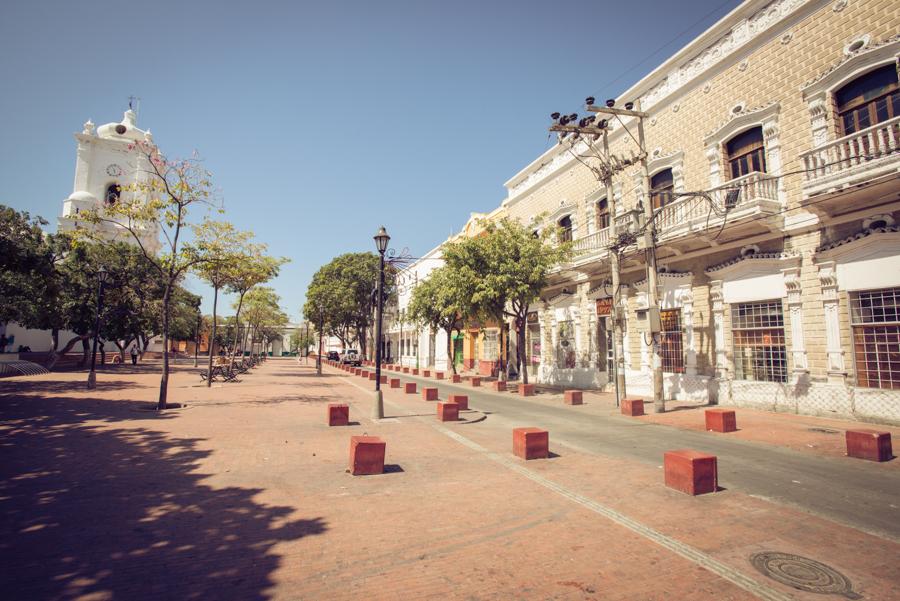
[[(253, 234), (239, 231), (227, 221), (206, 219), (194, 229), (194, 236), (203, 259), (203, 262), (197, 264), (195, 272), (213, 288), (213, 314), (207, 363), (207, 373), (212, 373), (213, 342), (217, 337), (219, 290), (231, 284), (239, 273), (242, 257), (250, 250), (250, 238)], [(212, 378), (206, 378), (206, 386), (212, 386)]]

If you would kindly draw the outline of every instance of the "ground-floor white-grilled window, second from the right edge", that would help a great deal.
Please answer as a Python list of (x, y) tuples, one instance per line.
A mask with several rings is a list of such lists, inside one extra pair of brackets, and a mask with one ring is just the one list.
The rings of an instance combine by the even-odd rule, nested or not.
[(787, 382), (787, 349), (781, 301), (732, 305), (734, 377)]

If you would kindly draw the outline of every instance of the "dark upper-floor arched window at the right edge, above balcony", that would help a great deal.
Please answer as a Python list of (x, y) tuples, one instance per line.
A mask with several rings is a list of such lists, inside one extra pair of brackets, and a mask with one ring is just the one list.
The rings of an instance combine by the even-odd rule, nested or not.
[(845, 136), (900, 116), (900, 86), (893, 63), (854, 79), (834, 96)]

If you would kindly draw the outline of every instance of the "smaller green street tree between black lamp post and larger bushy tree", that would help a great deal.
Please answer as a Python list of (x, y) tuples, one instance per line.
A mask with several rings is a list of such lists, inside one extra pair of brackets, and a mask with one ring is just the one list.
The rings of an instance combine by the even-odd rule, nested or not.
[(447, 360), (453, 373), (456, 373), (453, 330), (460, 331), (463, 318), (471, 311), (467, 300), (469, 288), (459, 272), (447, 266), (439, 267), (416, 286), (407, 308), (408, 319), (428, 326), (432, 331), (443, 330), (447, 333)]

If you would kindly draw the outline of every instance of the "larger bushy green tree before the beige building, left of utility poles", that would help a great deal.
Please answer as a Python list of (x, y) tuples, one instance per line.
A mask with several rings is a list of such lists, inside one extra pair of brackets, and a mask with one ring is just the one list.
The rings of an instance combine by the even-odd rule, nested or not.
[(513, 318), (516, 328), (516, 365), (522, 381), (525, 324), (528, 307), (547, 287), (551, 270), (572, 256), (572, 243), (559, 238), (555, 227), (526, 228), (503, 218), (484, 222), (484, 235), (449, 243), (444, 248), (446, 267), (472, 283), (472, 303), (487, 315)]

